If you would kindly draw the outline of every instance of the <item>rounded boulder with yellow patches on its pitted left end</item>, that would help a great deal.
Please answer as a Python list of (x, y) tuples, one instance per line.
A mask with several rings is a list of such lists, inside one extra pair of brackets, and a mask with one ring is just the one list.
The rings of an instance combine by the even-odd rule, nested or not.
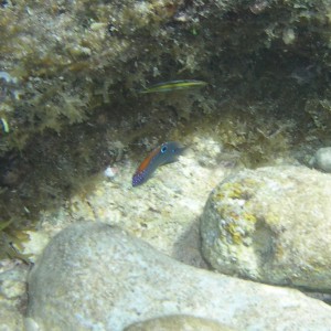
[(213, 268), (331, 291), (331, 177), (299, 167), (244, 170), (211, 193), (201, 217)]

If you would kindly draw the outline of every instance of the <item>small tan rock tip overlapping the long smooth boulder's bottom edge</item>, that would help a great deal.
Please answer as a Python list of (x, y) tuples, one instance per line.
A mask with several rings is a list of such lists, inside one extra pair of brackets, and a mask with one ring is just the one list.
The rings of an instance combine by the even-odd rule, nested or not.
[(232, 331), (234, 329), (222, 325), (215, 321), (192, 316), (167, 316), (139, 323), (135, 323), (125, 331)]

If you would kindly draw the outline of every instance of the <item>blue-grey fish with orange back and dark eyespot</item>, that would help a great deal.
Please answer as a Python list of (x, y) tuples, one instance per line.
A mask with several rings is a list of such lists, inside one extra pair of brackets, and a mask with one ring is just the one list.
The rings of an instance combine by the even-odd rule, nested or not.
[(184, 150), (185, 147), (175, 141), (164, 142), (156, 148), (136, 170), (132, 177), (132, 186), (147, 182), (159, 166), (177, 161)]

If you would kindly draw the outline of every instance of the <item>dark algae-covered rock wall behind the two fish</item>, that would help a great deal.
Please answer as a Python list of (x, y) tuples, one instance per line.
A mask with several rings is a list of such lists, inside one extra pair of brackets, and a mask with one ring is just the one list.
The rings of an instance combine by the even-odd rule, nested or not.
[[(330, 25), (329, 0), (2, 2), (6, 232), (104, 166), (195, 131), (245, 167), (305, 161), (331, 143)], [(207, 85), (189, 88), (197, 77)]]

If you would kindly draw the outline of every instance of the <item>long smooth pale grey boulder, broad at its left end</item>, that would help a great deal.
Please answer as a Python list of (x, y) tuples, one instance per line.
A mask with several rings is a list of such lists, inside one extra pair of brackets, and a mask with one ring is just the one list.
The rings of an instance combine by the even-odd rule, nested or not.
[(189, 314), (238, 330), (330, 330), (331, 307), (183, 265), (122, 229), (76, 223), (56, 235), (29, 277), (28, 330), (119, 331)]

